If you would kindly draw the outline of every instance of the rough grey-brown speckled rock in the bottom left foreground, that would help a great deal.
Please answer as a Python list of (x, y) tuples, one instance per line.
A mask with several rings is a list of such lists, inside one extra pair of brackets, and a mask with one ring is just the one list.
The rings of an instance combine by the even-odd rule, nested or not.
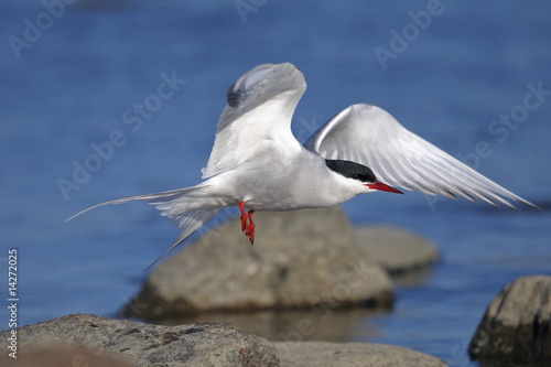
[[(0, 333), (2, 350), (8, 350), (4, 344), (9, 333)], [(74, 314), (20, 327), (17, 335), (20, 356), (33, 350), (85, 347), (96, 356), (132, 367), (279, 366), (277, 350), (268, 341), (233, 324), (161, 326)]]

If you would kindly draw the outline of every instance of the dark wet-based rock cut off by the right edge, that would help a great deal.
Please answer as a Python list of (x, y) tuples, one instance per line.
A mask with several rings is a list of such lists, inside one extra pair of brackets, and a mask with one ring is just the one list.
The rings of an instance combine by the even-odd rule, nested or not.
[(468, 353), (488, 361), (551, 360), (551, 277), (522, 277), (506, 285), (486, 310)]

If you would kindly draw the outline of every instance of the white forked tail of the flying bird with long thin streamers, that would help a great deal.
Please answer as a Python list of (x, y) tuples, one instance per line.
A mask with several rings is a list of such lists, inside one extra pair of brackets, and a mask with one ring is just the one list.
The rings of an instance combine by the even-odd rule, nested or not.
[(152, 265), (150, 265), (148, 267), (149, 269), (223, 209), (220, 203), (217, 202), (216, 198), (209, 196), (207, 191), (208, 185), (199, 184), (193, 187), (165, 191), (161, 193), (121, 197), (94, 205), (75, 214), (65, 222), (68, 222), (74, 217), (79, 216), (80, 214), (107, 204), (123, 204), (133, 201), (148, 201), (149, 204), (154, 205), (158, 209), (162, 211), (161, 215), (169, 217), (174, 223), (177, 223), (179, 228), (182, 229), (176, 241)]

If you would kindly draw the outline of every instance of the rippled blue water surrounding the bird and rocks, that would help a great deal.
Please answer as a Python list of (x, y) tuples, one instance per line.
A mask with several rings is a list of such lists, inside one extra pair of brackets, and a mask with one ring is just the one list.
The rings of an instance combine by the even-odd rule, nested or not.
[[(409, 192), (346, 203), (355, 224), (410, 228), (443, 259), (419, 285), (397, 289), (391, 312), (341, 339), (466, 366), (491, 298), (520, 276), (551, 273), (551, 95), (523, 107), (528, 85), (551, 89), (549, 1), (45, 3), (57, 4), (56, 17), (41, 2), (0, 3), (0, 289), (8, 302), (8, 250), (17, 248), (20, 325), (115, 315), (137, 292), (175, 226), (143, 203), (64, 220), (110, 198), (196, 184), (227, 88), (264, 62), (292, 62), (306, 77), (293, 122), (301, 140), (348, 105), (372, 102), (547, 209)], [(158, 87), (171, 77), (179, 82), (161, 99)], [(143, 104), (151, 112), (139, 112)], [(501, 114), (519, 122), (495, 122)], [(90, 144), (106, 142), (112, 151), (90, 158)], [(95, 172), (76, 182), (75, 164)], [(7, 328), (6, 310), (0, 317)]]

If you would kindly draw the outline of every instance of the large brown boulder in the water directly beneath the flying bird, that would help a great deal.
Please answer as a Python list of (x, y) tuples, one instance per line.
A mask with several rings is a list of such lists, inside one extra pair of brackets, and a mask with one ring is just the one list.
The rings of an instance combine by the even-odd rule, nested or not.
[(358, 248), (341, 208), (259, 212), (255, 223), (252, 247), (238, 218), (185, 246), (150, 274), (122, 315), (391, 305), (389, 277)]

